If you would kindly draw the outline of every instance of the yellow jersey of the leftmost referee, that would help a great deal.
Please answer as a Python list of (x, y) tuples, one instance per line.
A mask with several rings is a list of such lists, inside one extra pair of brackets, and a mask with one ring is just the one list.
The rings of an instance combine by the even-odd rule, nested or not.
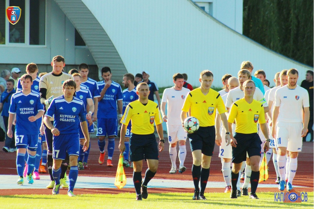
[(128, 125), (131, 120), (131, 132), (135, 134), (154, 133), (154, 121), (158, 125), (162, 123), (162, 117), (158, 105), (148, 100), (146, 105), (136, 100), (127, 105), (120, 123)]

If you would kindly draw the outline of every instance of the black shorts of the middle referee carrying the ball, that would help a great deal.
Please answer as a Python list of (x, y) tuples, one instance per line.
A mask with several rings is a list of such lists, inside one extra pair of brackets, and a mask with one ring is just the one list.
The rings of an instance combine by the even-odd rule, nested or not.
[(215, 126), (199, 127), (198, 131), (187, 136), (190, 138), (191, 151), (202, 150), (207, 156), (213, 156), (215, 147)]

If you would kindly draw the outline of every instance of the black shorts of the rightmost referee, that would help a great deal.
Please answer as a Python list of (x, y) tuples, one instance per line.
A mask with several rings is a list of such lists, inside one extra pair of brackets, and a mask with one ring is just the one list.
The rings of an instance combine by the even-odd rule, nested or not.
[(246, 161), (246, 152), (249, 157), (255, 155), (261, 157), (262, 141), (257, 133), (235, 133), (234, 138), (238, 144), (236, 147), (232, 147), (232, 163), (242, 163)]

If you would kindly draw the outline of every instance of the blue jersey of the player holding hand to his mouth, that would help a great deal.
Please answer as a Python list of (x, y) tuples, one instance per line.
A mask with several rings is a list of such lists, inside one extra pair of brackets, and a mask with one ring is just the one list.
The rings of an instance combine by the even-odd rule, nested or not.
[[(105, 82), (98, 82), (99, 93), (105, 87)], [(106, 90), (104, 97), (98, 103), (97, 118), (115, 118), (117, 119), (117, 100), (122, 100), (122, 89), (119, 83), (112, 81), (110, 87)]]

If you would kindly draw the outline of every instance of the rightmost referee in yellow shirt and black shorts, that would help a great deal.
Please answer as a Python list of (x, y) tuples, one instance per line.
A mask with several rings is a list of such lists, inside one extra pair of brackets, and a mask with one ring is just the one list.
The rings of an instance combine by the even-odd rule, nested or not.
[[(253, 99), (255, 92), (255, 83), (252, 80), (247, 80), (243, 83), (244, 98), (233, 103), (229, 118), (228, 126), (231, 132), (232, 146), (232, 169), (231, 169), (231, 185), (232, 190), (230, 198), (237, 198), (236, 183), (239, 178), (241, 164), (246, 160), (246, 153), (251, 162), (251, 194), (250, 199), (259, 199), (255, 194), (259, 180), (259, 162), (261, 160), (261, 144), (262, 141), (257, 134), (257, 122), (266, 139), (264, 150), (269, 149), (268, 130), (265, 121), (263, 105)], [(232, 136), (232, 123), (236, 120), (236, 130)]]

